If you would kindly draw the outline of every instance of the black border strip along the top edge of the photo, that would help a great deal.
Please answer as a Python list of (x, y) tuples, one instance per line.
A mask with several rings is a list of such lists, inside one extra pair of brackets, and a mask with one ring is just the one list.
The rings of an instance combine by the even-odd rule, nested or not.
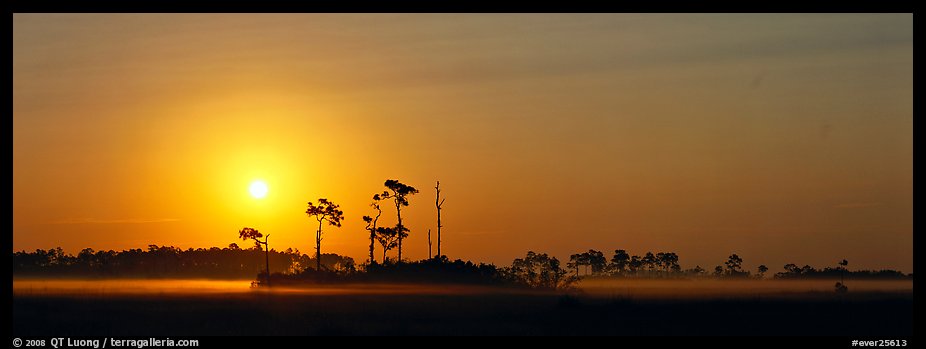
[(90, 0), (90, 1), (16, 1), (12, 12), (329, 12), (329, 13), (586, 13), (586, 12), (913, 12), (912, 2), (898, 1), (178, 1), (178, 0)]

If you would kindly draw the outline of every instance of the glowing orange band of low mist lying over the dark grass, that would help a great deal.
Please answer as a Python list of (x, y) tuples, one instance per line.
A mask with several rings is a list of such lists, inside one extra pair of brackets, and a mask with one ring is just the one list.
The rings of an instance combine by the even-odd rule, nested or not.
[[(14, 279), (14, 296), (179, 296), (209, 294), (292, 295), (493, 295), (569, 294), (615, 299), (709, 299), (836, 296), (838, 280), (613, 279), (589, 278), (563, 291), (486, 285), (429, 283), (345, 283), (252, 288), (251, 280), (208, 279)], [(912, 280), (847, 281), (852, 294), (912, 294)]]

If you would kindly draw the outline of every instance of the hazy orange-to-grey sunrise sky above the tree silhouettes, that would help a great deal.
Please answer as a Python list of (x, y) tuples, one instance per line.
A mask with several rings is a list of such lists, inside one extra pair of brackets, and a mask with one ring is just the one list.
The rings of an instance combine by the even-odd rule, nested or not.
[(912, 14), (15, 14), (13, 249), (309, 253), (326, 197), (359, 262), (394, 178), (412, 259), (440, 180), (451, 258), (911, 272), (912, 75)]

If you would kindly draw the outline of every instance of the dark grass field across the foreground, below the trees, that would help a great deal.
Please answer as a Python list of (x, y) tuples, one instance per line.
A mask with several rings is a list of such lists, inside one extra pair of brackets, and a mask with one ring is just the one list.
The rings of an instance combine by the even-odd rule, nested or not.
[(243, 288), (202, 292), (203, 287), (52, 292), (58, 288), (43, 290), (35, 285), (21, 285), (18, 289), (14, 287), (13, 333), (17, 336), (913, 334), (912, 289), (844, 295), (809, 291), (693, 297), (643, 297), (638, 293), (631, 297), (592, 292), (567, 296), (463, 286), (353, 285), (270, 292)]

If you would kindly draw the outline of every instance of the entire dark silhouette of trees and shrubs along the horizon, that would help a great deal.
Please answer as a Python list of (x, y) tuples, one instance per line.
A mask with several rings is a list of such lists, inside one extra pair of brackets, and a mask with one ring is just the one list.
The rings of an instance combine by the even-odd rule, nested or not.
[[(444, 200), (440, 199), (440, 182), (437, 183), (435, 206), (439, 212)], [(565, 265), (556, 257), (534, 251), (528, 251), (524, 257), (514, 259), (508, 266), (450, 260), (445, 255), (410, 261), (401, 258), (402, 240), (410, 233), (402, 222), (401, 208), (409, 206), (409, 197), (417, 194), (418, 190), (392, 179), (385, 181), (384, 186), (386, 190), (372, 196), (370, 207), (375, 211), (375, 216), (362, 217), (367, 223), (365, 230), (369, 232), (370, 255), (369, 260), (359, 264), (351, 257), (321, 252), (324, 224), (337, 228), (345, 218), (339, 205), (327, 198), (320, 198), (317, 204), (308, 202), (305, 211), (308, 217), (318, 222), (314, 256), (303, 254), (298, 249), (273, 249), (269, 244), (269, 234), (264, 235), (255, 228), (244, 227), (238, 231), (238, 237), (254, 243), (253, 247), (247, 249), (240, 248), (237, 243), (231, 243), (225, 248), (187, 250), (173, 246), (149, 245), (147, 250), (130, 249), (121, 252), (94, 251), (86, 248), (74, 256), (57, 247), (13, 253), (13, 272), (17, 276), (93, 278), (255, 278), (257, 286), (325, 282), (434, 282), (558, 290), (569, 289), (583, 278), (764, 279), (770, 270), (765, 265), (758, 266), (755, 274), (743, 270), (743, 258), (735, 253), (722, 265), (718, 264), (708, 271), (700, 265), (683, 269), (680, 257), (675, 252), (646, 252), (640, 256), (631, 255), (623, 249), (613, 250), (614, 253), (610, 256), (606, 256), (602, 251), (590, 249), (572, 254)], [(396, 208), (395, 226), (377, 225), (383, 214), (384, 202)], [(438, 246), (441, 227), (439, 220), (438, 213)], [(374, 242), (379, 243), (382, 251), (382, 259), (379, 261), (375, 256)], [(387, 252), (392, 249), (397, 249), (395, 258), (387, 256)], [(836, 285), (836, 291), (845, 292), (845, 279), (913, 277), (912, 274), (896, 270), (850, 271), (847, 266), (846, 260), (838, 262), (835, 267), (822, 269), (788, 263), (782, 266), (783, 271), (773, 274), (772, 278), (838, 278), (840, 283)]]

